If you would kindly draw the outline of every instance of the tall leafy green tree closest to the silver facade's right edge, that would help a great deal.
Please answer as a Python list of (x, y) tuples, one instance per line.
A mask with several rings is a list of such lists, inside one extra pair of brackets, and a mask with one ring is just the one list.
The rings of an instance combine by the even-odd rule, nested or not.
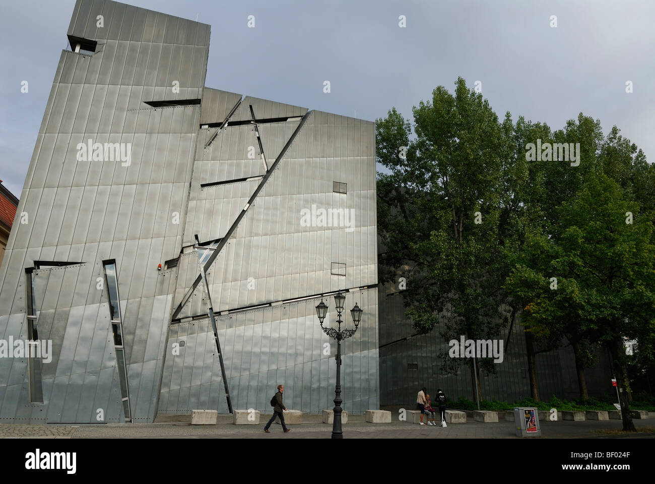
[[(406, 314), (421, 333), (439, 321), (446, 340), (498, 338), (504, 291), (500, 188), (508, 142), (481, 94), (458, 79), (455, 92), (438, 87), (413, 108), (415, 139), (395, 110), (377, 120), (379, 232), (383, 266), (407, 274)], [(406, 158), (398, 155), (407, 143)], [(381, 278), (390, 275), (381, 274)], [(477, 397), (482, 398), (479, 366)], [(488, 361), (480, 362), (488, 370)]]

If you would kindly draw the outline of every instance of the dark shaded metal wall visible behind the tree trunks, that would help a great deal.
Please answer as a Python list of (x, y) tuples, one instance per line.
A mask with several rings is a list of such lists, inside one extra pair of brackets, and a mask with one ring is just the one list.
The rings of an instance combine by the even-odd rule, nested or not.
[[(466, 359), (462, 359), (456, 374), (441, 369), (438, 355), (447, 354), (448, 341), (443, 340), (436, 328), (428, 334), (417, 335), (411, 321), (405, 317), (402, 294), (390, 284), (379, 286), (380, 304), (380, 404), (413, 405), (419, 390), (425, 386), (428, 393), (441, 388), (449, 399), (465, 397), (474, 400), (471, 373)], [(506, 327), (499, 335), (504, 340), (504, 360), (497, 363), (496, 374), (481, 373), (484, 399), (509, 403), (530, 397), (530, 380), (523, 329), (514, 324), (512, 333)], [(408, 364), (415, 363), (417, 369)], [(536, 355), (539, 394), (542, 401), (552, 395), (560, 399), (578, 398), (578, 380), (570, 346), (553, 352)], [(599, 363), (586, 370), (589, 395), (599, 397), (609, 393), (610, 376), (607, 355), (599, 355)], [(611, 390), (611, 389), (610, 389)]]

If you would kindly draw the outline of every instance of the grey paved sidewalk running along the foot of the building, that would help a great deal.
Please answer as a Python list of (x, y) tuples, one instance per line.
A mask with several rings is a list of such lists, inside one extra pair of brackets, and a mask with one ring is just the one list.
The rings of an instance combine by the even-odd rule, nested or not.
[[(620, 430), (620, 420), (584, 422), (542, 422), (543, 438), (616, 438), (645, 437), (655, 438), (655, 418), (634, 420), (638, 429), (650, 429), (650, 433), (607, 434), (604, 432)], [(191, 426), (186, 422), (160, 424), (88, 424), (80, 426), (64, 425), (13, 425), (0, 424), (0, 437), (3, 438), (240, 438), (240, 439), (326, 439), (331, 436), (332, 426), (320, 422), (305, 422), (290, 425), (291, 432), (282, 433), (279, 425), (271, 427), (271, 433), (263, 432), (264, 423), (259, 425), (234, 426), (220, 423), (212, 426)], [(369, 424), (350, 422), (343, 426), (345, 438), (356, 439), (515, 439), (512, 422), (450, 424), (447, 428), (439, 426), (419, 426), (407, 422), (391, 424)]]

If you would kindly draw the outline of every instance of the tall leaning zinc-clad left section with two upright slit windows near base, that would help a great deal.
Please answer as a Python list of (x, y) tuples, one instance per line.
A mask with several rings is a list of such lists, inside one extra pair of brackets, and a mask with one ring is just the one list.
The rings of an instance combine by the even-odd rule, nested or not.
[[(96, 26), (102, 15), (104, 27)], [(83, 262), (35, 272), (45, 402), (31, 405), (25, 359), (0, 359), (0, 418), (121, 422), (121, 393), (102, 260), (116, 260), (134, 421), (157, 409), (200, 106), (144, 101), (200, 98), (210, 27), (108, 0), (78, 0), (69, 35), (96, 52), (64, 50), (0, 269), (0, 337), (26, 337), (24, 272), (35, 260)], [(73, 49), (74, 49), (73, 45)], [(177, 87), (178, 89), (173, 89)], [(130, 146), (130, 160), (83, 161), (77, 145)], [(176, 223), (179, 218), (179, 223)]]

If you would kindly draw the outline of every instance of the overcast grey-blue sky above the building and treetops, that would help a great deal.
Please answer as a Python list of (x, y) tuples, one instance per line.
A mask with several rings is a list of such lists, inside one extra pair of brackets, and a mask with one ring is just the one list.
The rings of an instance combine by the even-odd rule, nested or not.
[[(435, 87), (452, 91), (462, 76), (469, 87), (481, 81), (501, 118), (510, 111), (559, 129), (582, 111), (655, 159), (652, 0), (127, 3), (212, 26), (208, 87), (373, 121), (392, 106), (410, 117)], [(74, 5), (0, 0), (0, 179), (16, 196)]]

